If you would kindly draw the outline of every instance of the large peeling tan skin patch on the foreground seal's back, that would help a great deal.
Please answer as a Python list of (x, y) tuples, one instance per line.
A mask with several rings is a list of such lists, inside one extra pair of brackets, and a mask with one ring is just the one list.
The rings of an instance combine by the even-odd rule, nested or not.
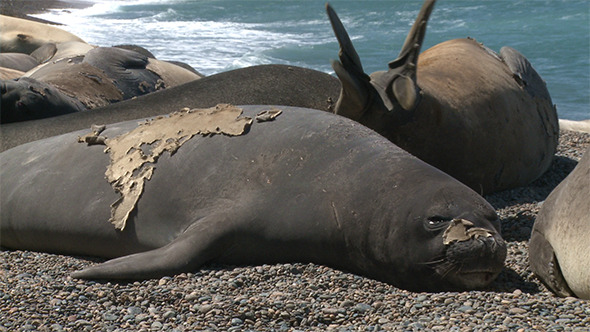
[[(196, 134), (242, 135), (252, 124), (249, 117), (240, 117), (242, 109), (219, 104), (208, 109), (184, 108), (166, 117), (141, 123), (134, 130), (104, 139), (105, 152), (111, 163), (105, 173), (107, 180), (121, 198), (111, 205), (109, 221), (119, 230), (125, 229), (130, 213), (143, 193), (145, 180), (154, 173), (154, 163), (168, 151), (171, 155)], [(81, 138), (100, 137), (96, 130)], [(92, 139), (91, 139), (92, 140)], [(146, 145), (149, 148), (146, 149)]]

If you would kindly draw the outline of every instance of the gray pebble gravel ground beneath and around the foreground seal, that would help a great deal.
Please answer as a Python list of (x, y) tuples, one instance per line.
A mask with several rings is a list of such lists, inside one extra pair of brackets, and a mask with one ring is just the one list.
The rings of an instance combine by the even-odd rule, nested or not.
[(528, 268), (539, 202), (574, 168), (590, 135), (562, 132), (551, 169), (486, 198), (508, 242), (486, 290), (413, 293), (315, 264), (207, 266), (134, 283), (75, 280), (100, 262), (0, 252), (0, 331), (590, 331), (590, 304), (553, 296)]

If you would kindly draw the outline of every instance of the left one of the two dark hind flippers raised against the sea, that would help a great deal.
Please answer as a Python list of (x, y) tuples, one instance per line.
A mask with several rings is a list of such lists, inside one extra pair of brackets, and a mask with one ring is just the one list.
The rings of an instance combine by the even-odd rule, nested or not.
[(371, 94), (375, 91), (370, 84), (369, 76), (363, 70), (361, 60), (346, 29), (330, 4), (326, 4), (326, 12), (340, 45), (338, 52), (340, 61), (332, 61), (332, 68), (342, 85), (334, 113), (359, 120), (368, 108), (372, 99)]

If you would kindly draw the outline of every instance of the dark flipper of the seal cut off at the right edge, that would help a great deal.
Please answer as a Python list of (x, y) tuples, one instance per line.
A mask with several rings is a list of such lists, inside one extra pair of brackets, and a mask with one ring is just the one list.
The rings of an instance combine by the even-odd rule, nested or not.
[(529, 241), (529, 264), (537, 278), (556, 295), (576, 296), (561, 273), (553, 247), (537, 230), (533, 230)]

